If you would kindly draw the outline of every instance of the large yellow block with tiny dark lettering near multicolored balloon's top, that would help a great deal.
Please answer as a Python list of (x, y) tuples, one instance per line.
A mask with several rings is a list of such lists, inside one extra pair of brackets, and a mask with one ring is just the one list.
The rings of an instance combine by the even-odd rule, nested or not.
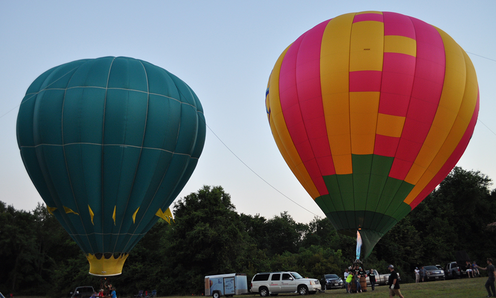
[(384, 23), (354, 23), (350, 41), (350, 71), (382, 71), (384, 57)]

